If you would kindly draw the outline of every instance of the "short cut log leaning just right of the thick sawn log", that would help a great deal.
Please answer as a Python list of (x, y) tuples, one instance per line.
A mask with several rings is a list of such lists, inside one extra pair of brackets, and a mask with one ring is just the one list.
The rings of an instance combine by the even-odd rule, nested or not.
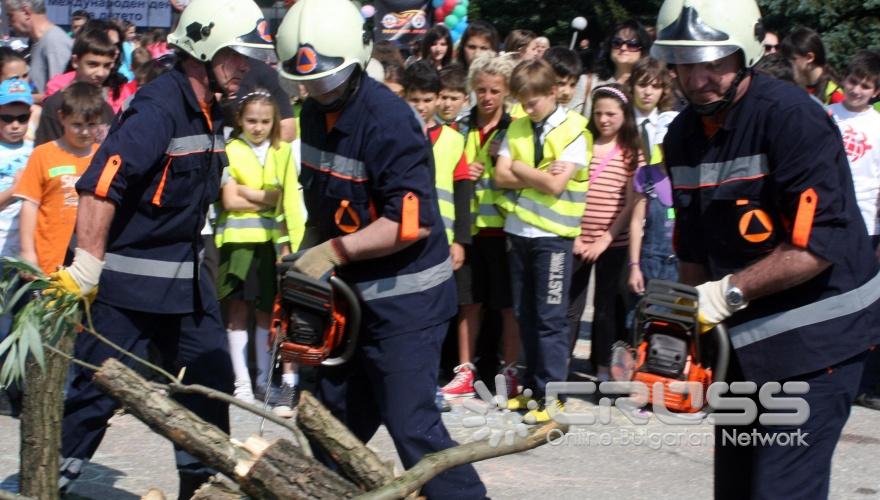
[(394, 479), (391, 469), (379, 460), (348, 428), (308, 391), (300, 395), (296, 422), (303, 432), (321, 445), (348, 479), (366, 491)]

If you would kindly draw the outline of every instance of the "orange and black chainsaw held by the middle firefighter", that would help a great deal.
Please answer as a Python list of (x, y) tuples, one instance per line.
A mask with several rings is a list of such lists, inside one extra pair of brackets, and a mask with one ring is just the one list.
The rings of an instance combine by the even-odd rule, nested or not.
[(314, 279), (296, 271), (299, 254), (278, 265), (281, 283), (272, 311), (272, 359), (302, 365), (337, 366), (354, 354), (361, 308), (354, 291), (338, 276)]

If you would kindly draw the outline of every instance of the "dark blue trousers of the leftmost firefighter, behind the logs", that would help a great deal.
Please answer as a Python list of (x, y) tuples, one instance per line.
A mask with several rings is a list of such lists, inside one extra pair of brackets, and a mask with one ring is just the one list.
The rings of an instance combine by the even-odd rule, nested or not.
[[(150, 351), (158, 352), (163, 368), (175, 375), (186, 367), (183, 383), (232, 392), (229, 344), (216, 301), (207, 311), (193, 314), (145, 313), (95, 302), (92, 317), (95, 330), (123, 349), (145, 359), (150, 357)], [(99, 366), (107, 358), (121, 356), (87, 333), (77, 335), (75, 354), (78, 359)], [(121, 360), (144, 373), (145, 369), (131, 358)], [(66, 466), (66, 469), (62, 467), (62, 473), (68, 478), (79, 473), (79, 461), (94, 455), (107, 430), (107, 420), (119, 407), (115, 399), (95, 386), (90, 370), (80, 366), (73, 368), (71, 387), (64, 401), (61, 437), (61, 456)], [(226, 403), (190, 394), (176, 395), (175, 399), (209, 423), (229, 432)], [(195, 457), (176, 447), (175, 458), (181, 477), (212, 473)]]

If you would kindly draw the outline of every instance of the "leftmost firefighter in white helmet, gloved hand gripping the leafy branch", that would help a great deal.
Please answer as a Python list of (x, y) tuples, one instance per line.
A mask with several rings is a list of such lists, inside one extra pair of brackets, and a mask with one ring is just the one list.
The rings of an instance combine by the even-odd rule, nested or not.
[[(184, 383), (231, 392), (225, 329), (201, 272), (208, 206), (227, 163), (215, 92), (236, 90), (247, 56), (274, 56), (268, 24), (250, 0), (193, 0), (169, 36), (176, 66), (138, 90), (77, 183), (79, 211), (72, 264), (52, 275), (49, 293), (94, 301), (97, 331), (144, 358), (153, 344)], [(91, 335), (77, 357), (100, 365), (119, 352)], [(131, 357), (122, 358), (133, 364)], [(118, 403), (76, 369), (62, 435), (62, 489), (94, 454)], [(229, 430), (228, 406), (201, 396), (180, 401)], [(213, 471), (177, 450), (180, 496)]]

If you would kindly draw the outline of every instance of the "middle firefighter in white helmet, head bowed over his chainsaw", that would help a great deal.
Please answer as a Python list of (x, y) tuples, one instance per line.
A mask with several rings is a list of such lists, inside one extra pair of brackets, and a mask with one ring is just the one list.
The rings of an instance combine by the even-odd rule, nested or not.
[[(357, 353), (319, 370), (318, 394), (362, 441), (385, 424), (405, 467), (455, 443), (434, 405), (440, 346), (456, 313), (431, 146), (414, 111), (365, 72), (372, 34), (349, 0), (300, 0), (277, 34), (282, 75), (303, 84), (302, 172), (308, 209), (296, 261), (335, 269), (364, 320)], [(483, 498), (470, 465), (429, 481), (429, 498)]]

